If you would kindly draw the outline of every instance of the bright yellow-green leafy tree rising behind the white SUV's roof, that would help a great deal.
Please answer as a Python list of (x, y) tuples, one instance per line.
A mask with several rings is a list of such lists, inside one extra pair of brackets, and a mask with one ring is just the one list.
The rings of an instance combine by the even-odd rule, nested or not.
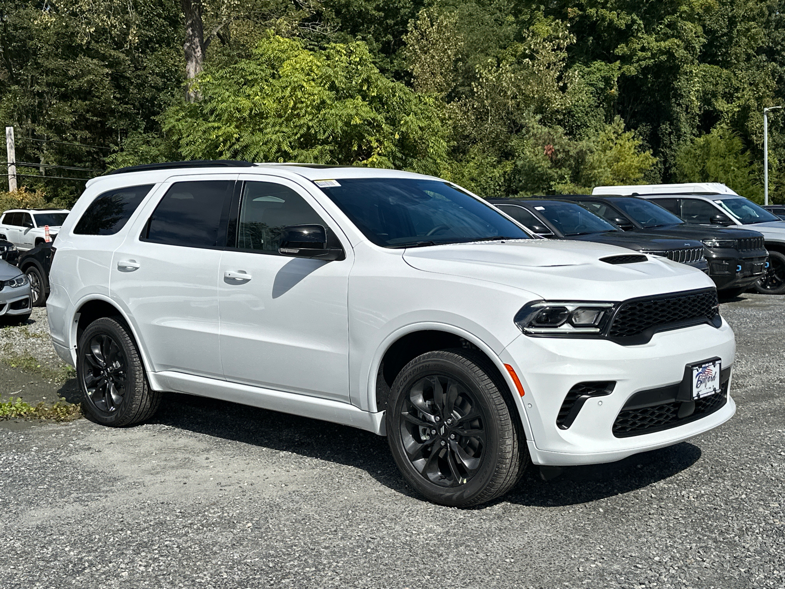
[(443, 121), (433, 101), (385, 78), (362, 42), (309, 51), (270, 35), (253, 57), (210, 68), (202, 100), (162, 115), (158, 147), (132, 137), (113, 165), (144, 159), (247, 159), (395, 167), (439, 174)]

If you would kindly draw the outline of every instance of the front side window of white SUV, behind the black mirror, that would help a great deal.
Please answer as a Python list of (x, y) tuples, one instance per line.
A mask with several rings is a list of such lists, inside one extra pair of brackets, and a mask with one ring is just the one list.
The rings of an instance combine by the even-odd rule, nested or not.
[(284, 227), (310, 224), (323, 225), (329, 236), (327, 223), (291, 188), (254, 181), (243, 186), (237, 222), (239, 249), (277, 254)]

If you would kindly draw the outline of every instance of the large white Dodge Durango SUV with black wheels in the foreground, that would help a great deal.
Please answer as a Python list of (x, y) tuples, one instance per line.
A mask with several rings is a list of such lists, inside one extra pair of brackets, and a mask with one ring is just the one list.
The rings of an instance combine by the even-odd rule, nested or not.
[(437, 177), (118, 170), (88, 182), (50, 283), (54, 345), (97, 422), (174, 391), (355, 426), (445, 505), (502, 495), (530, 460), (610, 462), (736, 410), (704, 273), (538, 239)]

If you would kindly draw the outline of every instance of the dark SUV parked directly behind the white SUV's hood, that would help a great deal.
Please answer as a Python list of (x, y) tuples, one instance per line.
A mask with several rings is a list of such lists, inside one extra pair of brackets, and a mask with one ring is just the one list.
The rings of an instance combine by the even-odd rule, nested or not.
[(624, 232), (579, 204), (550, 199), (488, 199), (537, 235), (560, 240), (608, 243), (641, 254), (664, 256), (709, 272), (703, 243), (657, 233)]

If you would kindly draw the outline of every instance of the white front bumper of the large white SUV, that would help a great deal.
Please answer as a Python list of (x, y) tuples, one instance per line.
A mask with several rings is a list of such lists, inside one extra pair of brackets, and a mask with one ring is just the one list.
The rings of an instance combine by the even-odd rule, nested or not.
[[(502, 360), (515, 368), (524, 386), (525, 394), (518, 401), (528, 423), (532, 461), (564, 466), (613, 462), (663, 448), (730, 419), (736, 404), (728, 395), (714, 412), (667, 429), (655, 427), (651, 433), (643, 430), (626, 437), (614, 433), (619, 413), (635, 393), (680, 383), (686, 364), (693, 362), (720, 357), (723, 369), (731, 367), (735, 351), (733, 331), (723, 321), (719, 328), (703, 324), (663, 331), (642, 346), (520, 335), (502, 352)], [(586, 401), (568, 429), (558, 426), (560, 409), (572, 387), (597, 381), (615, 382), (612, 392)], [(730, 384), (728, 379), (728, 392)]]

